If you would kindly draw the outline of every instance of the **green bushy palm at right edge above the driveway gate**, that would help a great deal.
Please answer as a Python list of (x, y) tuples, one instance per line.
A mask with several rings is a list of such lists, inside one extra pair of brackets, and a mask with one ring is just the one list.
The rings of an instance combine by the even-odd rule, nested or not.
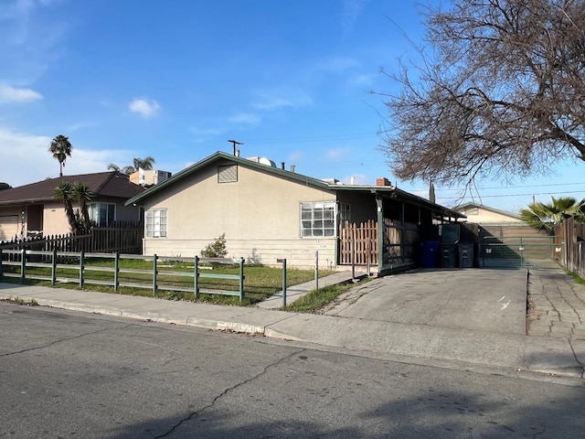
[(585, 199), (577, 201), (572, 197), (551, 198), (552, 201), (547, 204), (541, 201), (530, 203), (527, 209), (520, 210), (520, 219), (530, 227), (547, 230), (549, 234), (563, 219), (574, 217), (580, 222), (585, 220)]

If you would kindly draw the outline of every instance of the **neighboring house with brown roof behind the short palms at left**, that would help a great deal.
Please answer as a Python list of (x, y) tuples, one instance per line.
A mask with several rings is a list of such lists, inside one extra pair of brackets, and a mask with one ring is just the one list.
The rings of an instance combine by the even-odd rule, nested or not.
[[(129, 198), (144, 192), (128, 176), (116, 172), (100, 172), (78, 176), (48, 178), (37, 183), (0, 191), (0, 241), (17, 237), (69, 233), (69, 222), (63, 203), (55, 198), (55, 187), (62, 181), (85, 183), (93, 199), (89, 203), (90, 219), (96, 224), (114, 220), (138, 221), (140, 208), (125, 206)], [(74, 208), (76, 203), (73, 203)]]

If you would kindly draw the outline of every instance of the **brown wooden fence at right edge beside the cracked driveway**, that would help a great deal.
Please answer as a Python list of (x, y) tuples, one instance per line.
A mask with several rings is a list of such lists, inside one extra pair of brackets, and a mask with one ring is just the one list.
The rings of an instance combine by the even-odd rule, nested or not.
[(565, 219), (555, 226), (555, 244), (564, 243), (565, 269), (585, 278), (585, 224)]

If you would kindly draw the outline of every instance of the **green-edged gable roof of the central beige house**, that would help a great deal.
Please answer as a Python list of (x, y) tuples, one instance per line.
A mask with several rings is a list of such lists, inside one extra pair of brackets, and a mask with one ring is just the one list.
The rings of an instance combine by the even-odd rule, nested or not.
[(398, 187), (393, 186), (376, 186), (376, 185), (343, 185), (338, 183), (327, 183), (324, 180), (303, 176), (303, 174), (299, 174), (293, 171), (287, 171), (285, 169), (281, 169), (274, 166), (267, 166), (261, 163), (249, 160), (247, 158), (241, 158), (237, 155), (230, 155), (227, 153), (223, 153), (218, 151), (215, 154), (209, 155), (206, 158), (198, 161), (196, 164), (191, 165), (183, 169), (182, 171), (176, 173), (173, 177), (163, 181), (162, 183), (157, 184), (154, 187), (150, 187), (146, 191), (141, 194), (136, 195), (134, 198), (129, 199), (126, 201), (126, 205), (129, 204), (138, 204), (144, 200), (144, 198), (148, 198), (151, 195), (155, 194), (156, 192), (164, 189), (165, 187), (169, 187), (174, 185), (177, 181), (182, 180), (183, 178), (189, 177), (200, 169), (217, 162), (219, 160), (229, 160), (233, 163), (239, 164), (241, 166), (250, 167), (252, 169), (259, 170), (261, 172), (265, 172), (271, 174), (275, 177), (281, 177), (288, 180), (292, 180), (297, 183), (301, 183), (304, 186), (308, 187), (315, 187), (323, 190), (330, 190), (330, 191), (361, 191), (365, 193), (379, 193), (381, 195), (387, 195), (388, 197), (392, 198), (399, 198), (403, 200), (408, 200), (412, 204), (416, 204), (419, 206), (424, 207), (425, 209), (430, 209), (431, 211), (440, 214), (445, 217), (451, 217), (455, 219), (466, 218), (465, 215), (462, 213), (456, 212), (452, 209), (445, 208), (435, 203), (431, 203), (428, 199), (418, 197), (416, 195), (410, 194), (409, 192), (405, 192)]

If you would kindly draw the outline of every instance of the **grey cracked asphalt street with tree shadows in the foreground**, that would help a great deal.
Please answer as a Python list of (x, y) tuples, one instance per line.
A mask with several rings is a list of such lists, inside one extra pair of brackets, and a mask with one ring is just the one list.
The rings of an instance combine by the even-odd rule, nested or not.
[(0, 303), (0, 437), (569, 438), (585, 389)]

